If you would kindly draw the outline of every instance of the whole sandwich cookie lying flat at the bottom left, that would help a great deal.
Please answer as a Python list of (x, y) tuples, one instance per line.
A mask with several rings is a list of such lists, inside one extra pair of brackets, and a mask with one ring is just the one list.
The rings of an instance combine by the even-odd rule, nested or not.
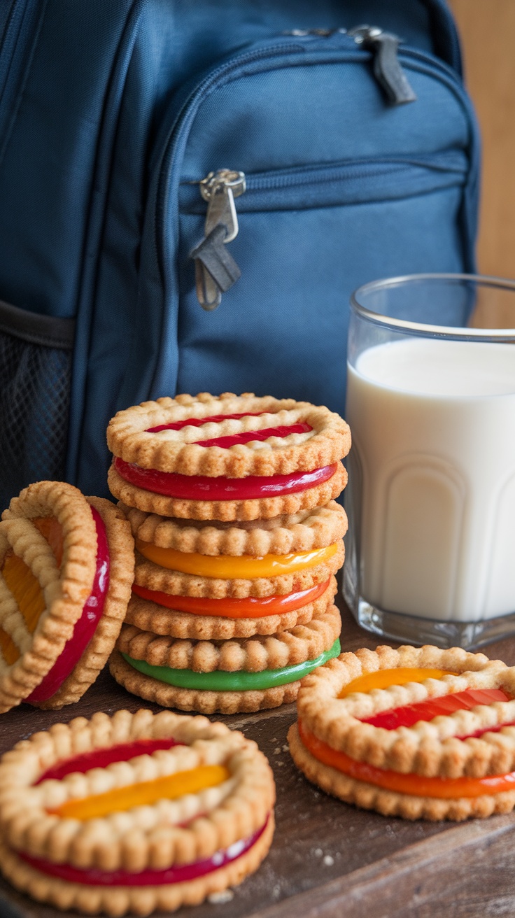
[(0, 869), (63, 911), (140, 916), (240, 883), (274, 833), (256, 744), (203, 717), (96, 713), (0, 764)]

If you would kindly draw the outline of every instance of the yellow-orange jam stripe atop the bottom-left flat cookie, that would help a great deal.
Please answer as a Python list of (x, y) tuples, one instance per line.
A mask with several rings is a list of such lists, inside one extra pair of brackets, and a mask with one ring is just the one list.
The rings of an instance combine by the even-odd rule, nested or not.
[(49, 810), (62, 819), (98, 819), (111, 812), (131, 810), (135, 806), (148, 806), (156, 800), (175, 800), (185, 794), (214, 788), (230, 778), (230, 771), (222, 765), (201, 765), (188, 771), (177, 771), (165, 778), (129, 784), (125, 788), (108, 790), (80, 800), (67, 800), (56, 810)]

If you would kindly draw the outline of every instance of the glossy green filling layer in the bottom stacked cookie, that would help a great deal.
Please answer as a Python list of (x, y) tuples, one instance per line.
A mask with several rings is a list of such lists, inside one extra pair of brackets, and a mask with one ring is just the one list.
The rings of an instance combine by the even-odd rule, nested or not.
[(333, 656), (340, 654), (340, 641), (337, 638), (330, 650), (317, 656), (306, 663), (297, 663), (297, 666), (283, 666), (282, 669), (263, 669), (260, 673), (246, 673), (240, 670), (236, 673), (224, 672), (216, 669), (213, 673), (194, 673), (193, 669), (172, 669), (170, 666), (152, 666), (144, 660), (134, 660), (127, 654), (122, 654), (130, 666), (134, 666), (145, 676), (151, 676), (160, 682), (168, 682), (177, 689), (199, 689), (200, 691), (250, 691), (252, 689), (272, 689), (273, 686), (284, 686), (288, 682), (295, 682), (316, 669), (317, 666), (327, 663)]

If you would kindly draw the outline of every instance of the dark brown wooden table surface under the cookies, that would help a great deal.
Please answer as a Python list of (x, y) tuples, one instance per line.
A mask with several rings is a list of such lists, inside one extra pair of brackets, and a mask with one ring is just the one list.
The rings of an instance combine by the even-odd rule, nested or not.
[[(341, 646), (374, 648), (342, 610)], [(515, 665), (515, 639), (485, 652)], [(103, 673), (84, 699), (62, 711), (22, 704), (1, 715), (0, 752), (54, 722), (94, 711), (135, 711), (145, 705)], [(297, 771), (286, 733), (295, 705), (222, 718), (252, 737), (268, 756), (277, 784), (276, 830), (258, 872), (230, 901), (205, 902), (177, 918), (475, 918), (515, 914), (515, 816), (467, 823), (409, 823), (386, 819), (333, 800)], [(31, 902), (0, 880), (0, 918), (58, 918), (62, 912)], [(156, 912), (162, 918), (163, 912)]]

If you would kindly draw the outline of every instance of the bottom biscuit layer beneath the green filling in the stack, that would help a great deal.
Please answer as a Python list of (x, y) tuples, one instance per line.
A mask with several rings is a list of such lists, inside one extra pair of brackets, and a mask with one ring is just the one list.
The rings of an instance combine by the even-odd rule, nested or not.
[(178, 708), (179, 711), (199, 711), (201, 714), (248, 713), (278, 708), (281, 704), (295, 701), (300, 680), (289, 682), (272, 689), (252, 691), (201, 691), (199, 689), (177, 689), (150, 676), (138, 672), (124, 660), (118, 650), (113, 651), (109, 670), (119, 685), (133, 695), (147, 701), (161, 704), (163, 708)]

